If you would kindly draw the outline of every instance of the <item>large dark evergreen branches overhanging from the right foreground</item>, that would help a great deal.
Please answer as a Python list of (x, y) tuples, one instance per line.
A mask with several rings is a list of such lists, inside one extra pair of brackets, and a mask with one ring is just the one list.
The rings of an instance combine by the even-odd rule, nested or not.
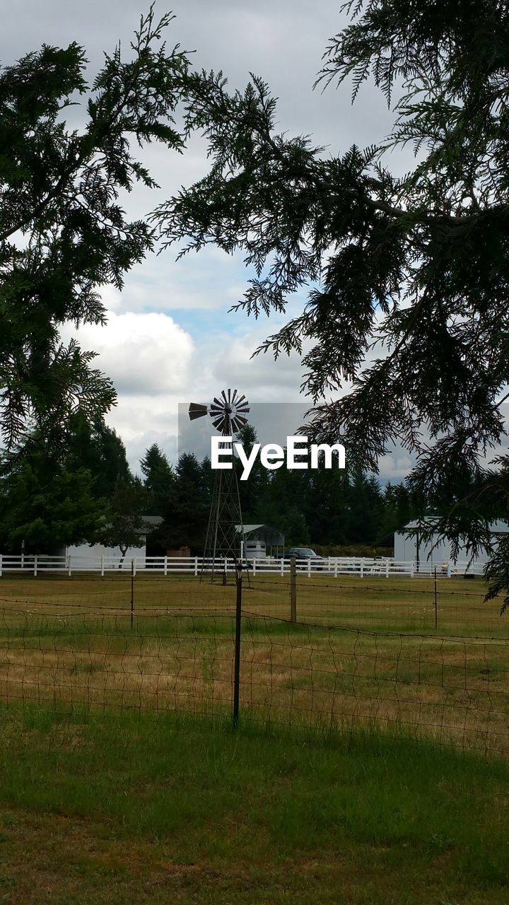
[[(331, 39), (319, 81), (351, 79), (355, 98), (371, 77), (395, 113), (389, 138), (325, 155), (309, 137), (276, 131), (264, 81), (229, 92), (222, 73), (193, 73), (187, 127), (204, 132), (211, 166), (159, 207), (158, 224), (168, 244), (243, 252), (255, 273), (240, 307), (255, 317), (309, 293), (258, 350), (309, 345), (303, 388), (317, 405), (306, 433), (341, 440), (366, 472), (403, 442), (418, 458), (410, 486), (421, 511), (437, 510), (440, 529), (475, 552), (491, 542), (494, 502), (500, 518), (508, 509), (482, 460), (503, 440), (509, 384), (507, 7), (344, 8), (351, 22)], [(386, 152), (408, 143), (418, 159), (395, 176)], [(345, 383), (350, 392), (321, 403)], [(450, 502), (458, 478), (482, 490), (475, 508), (472, 491)], [(509, 577), (505, 589), (509, 603)]]

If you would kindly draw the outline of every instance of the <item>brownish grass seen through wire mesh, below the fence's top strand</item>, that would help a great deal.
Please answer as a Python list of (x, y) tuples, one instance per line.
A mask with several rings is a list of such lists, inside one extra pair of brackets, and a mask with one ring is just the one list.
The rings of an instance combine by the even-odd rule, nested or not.
[[(7, 606), (0, 700), (225, 714), (234, 634), (226, 606), (208, 614), (140, 610), (132, 627), (120, 607)], [(378, 633), (245, 614), (240, 675), (241, 708), (261, 721), (405, 728), (509, 755), (509, 643), (502, 638)]]

